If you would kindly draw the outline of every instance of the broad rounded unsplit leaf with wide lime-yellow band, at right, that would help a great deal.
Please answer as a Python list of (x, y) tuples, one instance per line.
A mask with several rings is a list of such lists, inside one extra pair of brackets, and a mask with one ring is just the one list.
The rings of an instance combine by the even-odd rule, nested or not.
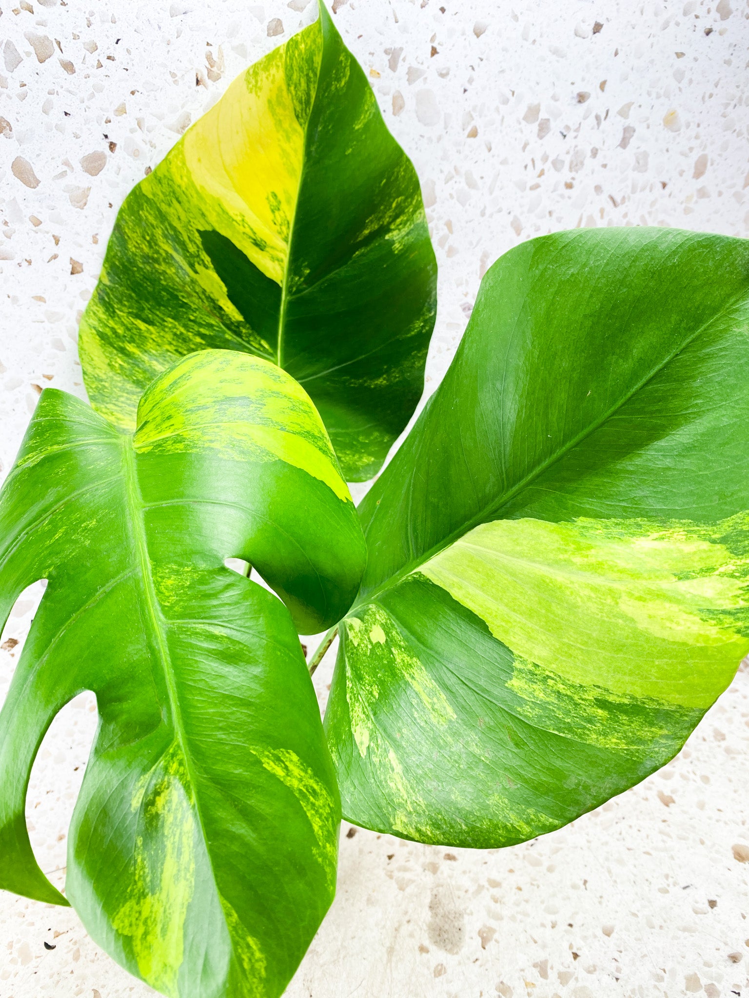
[(348, 819), (506, 845), (680, 749), (749, 651), (748, 333), (741, 240), (562, 233), (489, 270), (361, 507)]

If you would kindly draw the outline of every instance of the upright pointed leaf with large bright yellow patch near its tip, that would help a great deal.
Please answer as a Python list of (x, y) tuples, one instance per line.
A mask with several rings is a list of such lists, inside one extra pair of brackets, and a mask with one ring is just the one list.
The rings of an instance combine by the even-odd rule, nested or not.
[(321, 0), (126, 199), (81, 325), (86, 388), (132, 429), (183, 354), (256, 354), (364, 481), (421, 395), (435, 284), (418, 179)]

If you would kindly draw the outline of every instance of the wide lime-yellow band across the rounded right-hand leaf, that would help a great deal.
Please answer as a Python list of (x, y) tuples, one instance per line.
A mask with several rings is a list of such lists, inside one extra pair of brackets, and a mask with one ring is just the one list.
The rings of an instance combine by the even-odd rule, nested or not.
[(563, 680), (706, 708), (749, 652), (749, 557), (721, 543), (748, 527), (496, 520), (418, 571)]

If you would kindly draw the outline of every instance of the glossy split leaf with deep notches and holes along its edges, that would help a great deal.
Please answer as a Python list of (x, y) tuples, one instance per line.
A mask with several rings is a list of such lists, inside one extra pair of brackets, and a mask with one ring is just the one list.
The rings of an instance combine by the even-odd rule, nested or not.
[(135, 435), (42, 392), (0, 493), (0, 621), (48, 580), (0, 714), (0, 887), (66, 903), (24, 799), (52, 719), (92, 690), (66, 881), (86, 928), (164, 994), (280, 995), (333, 899), (340, 820), (297, 627), (346, 612), (365, 557), (320, 417), (275, 365), (193, 354)]

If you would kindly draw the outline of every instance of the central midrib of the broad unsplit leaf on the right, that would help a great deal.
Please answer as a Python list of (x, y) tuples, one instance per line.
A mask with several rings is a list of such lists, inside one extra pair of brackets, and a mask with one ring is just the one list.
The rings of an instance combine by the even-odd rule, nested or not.
[[(712, 315), (709, 319), (707, 319), (707, 321), (703, 322), (701, 326), (695, 329), (694, 332), (691, 333), (691, 335), (687, 336), (686, 339), (684, 339), (683, 342), (679, 344), (679, 346), (677, 346), (674, 350), (672, 350), (671, 353), (669, 353), (666, 357), (664, 357), (659, 364), (656, 364), (656, 366), (653, 367), (651, 371), (649, 371), (643, 378), (640, 379), (640, 381), (637, 382), (637, 384), (634, 385), (631, 391), (629, 391), (626, 395), (622, 396), (622, 398), (619, 399), (614, 405), (612, 405), (605, 413), (603, 413), (603, 415), (596, 422), (591, 423), (589, 426), (585, 427), (585, 429), (581, 430), (580, 433), (577, 434), (577, 436), (573, 437), (563, 447), (560, 447), (559, 450), (557, 450), (554, 454), (550, 455), (545, 461), (539, 464), (537, 468), (530, 471), (523, 479), (521, 479), (517, 483), (517, 485), (513, 486), (508, 492), (504, 493), (499, 499), (487, 503), (479, 512), (475, 513), (468, 521), (466, 521), (465, 524), (456, 527), (455, 530), (453, 530), (445, 538), (443, 538), (441, 541), (438, 541), (436, 544), (432, 545), (432, 547), (429, 548), (428, 551), (406, 562), (406, 564), (403, 565), (402, 568), (398, 569), (397, 572), (394, 572), (392, 575), (388, 576), (387, 579), (385, 579), (378, 586), (375, 586), (374, 589), (370, 590), (361, 599), (358, 597), (354, 603), (354, 606), (349, 611), (349, 614), (353, 613), (359, 607), (373, 602), (383, 592), (396, 586), (407, 575), (410, 575), (412, 572), (417, 571), (421, 567), (421, 565), (425, 564), (427, 561), (429, 561), (429, 559), (433, 558), (435, 555), (438, 555), (440, 551), (444, 551), (445, 548), (448, 548), (451, 544), (454, 544), (455, 541), (458, 541), (461, 537), (464, 537), (465, 534), (470, 533), (470, 531), (473, 530), (474, 527), (478, 527), (482, 523), (487, 523), (491, 519), (497, 519), (496, 514), (499, 513), (501, 509), (503, 509), (505, 506), (508, 506), (512, 502), (512, 500), (515, 499), (524, 489), (528, 488), (532, 484), (532, 482), (536, 480), (536, 478), (539, 478), (546, 470), (548, 470), (548, 468), (553, 467), (553, 465), (556, 464), (557, 461), (560, 461), (565, 456), (565, 454), (573, 450), (586, 437), (590, 436), (592, 433), (595, 433), (596, 430), (600, 429), (600, 427), (603, 426), (605, 422), (607, 422), (613, 415), (615, 415), (616, 412), (618, 412), (619, 409), (622, 408), (622, 406), (626, 405), (626, 403), (631, 398), (633, 398), (637, 394), (637, 392), (640, 391), (649, 381), (651, 381), (657, 374), (659, 374), (665, 367), (667, 367), (668, 364), (670, 364), (671, 361), (676, 356), (678, 356), (679, 353), (681, 353), (683, 350), (687, 348), (687, 346), (690, 345), (690, 343), (694, 342), (694, 340), (697, 339), (706, 329), (708, 329), (714, 322), (718, 321), (718, 319), (720, 319), (721, 316), (729, 312), (737, 304), (741, 303), (742, 301), (745, 301), (745, 299), (746, 299), (745, 293), (739, 292), (736, 295), (734, 295), (724, 305), (723, 308), (715, 312), (715, 314)], [(412, 478), (409, 479), (410, 484), (412, 484), (412, 481), (413, 481)], [(365, 533), (365, 537), (367, 537), (367, 533)], [(347, 614), (347, 616), (349, 616), (349, 614)]]

